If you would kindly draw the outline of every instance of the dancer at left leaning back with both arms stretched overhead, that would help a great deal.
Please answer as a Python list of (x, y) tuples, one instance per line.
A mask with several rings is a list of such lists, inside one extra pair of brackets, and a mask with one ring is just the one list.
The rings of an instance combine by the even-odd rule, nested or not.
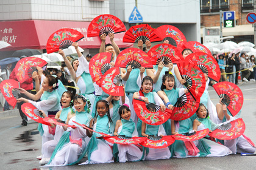
[(84, 94), (85, 97), (90, 100), (92, 106), (89, 109), (92, 112), (95, 95), (93, 94), (94, 86), (89, 72), (89, 63), (85, 59), (84, 55), (82, 55), (82, 53), (79, 51), (78, 43), (73, 42), (72, 46), (74, 46), (76, 49), (77, 55), (79, 56), (78, 60), (73, 60), (73, 62), (70, 63), (66, 58), (65, 53), (61, 49), (59, 50), (59, 54), (62, 55), (65, 64), (71, 73), (71, 77), (79, 87), (81, 94)]

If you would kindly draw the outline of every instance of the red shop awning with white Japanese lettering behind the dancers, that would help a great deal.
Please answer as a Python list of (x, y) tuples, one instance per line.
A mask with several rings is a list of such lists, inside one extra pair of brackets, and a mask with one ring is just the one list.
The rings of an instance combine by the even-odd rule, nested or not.
[[(46, 49), (49, 36), (56, 30), (71, 28), (84, 34), (85, 38), (79, 41), (82, 49), (97, 49), (101, 46), (99, 37), (88, 38), (87, 28), (90, 22), (73, 21), (2, 21), (0, 22), (0, 40), (12, 46), (3, 50)], [(133, 44), (123, 42), (124, 33), (115, 34), (115, 42), (119, 48), (131, 47)], [(109, 43), (109, 38), (107, 38)]]

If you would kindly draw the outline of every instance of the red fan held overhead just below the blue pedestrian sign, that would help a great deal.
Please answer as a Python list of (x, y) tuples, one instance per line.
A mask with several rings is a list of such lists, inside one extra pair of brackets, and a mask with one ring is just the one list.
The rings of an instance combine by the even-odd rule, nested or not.
[(148, 24), (135, 25), (130, 27), (124, 34), (123, 42), (138, 43), (142, 40), (145, 43), (147, 40), (150, 42), (162, 41), (155, 35), (155, 29)]

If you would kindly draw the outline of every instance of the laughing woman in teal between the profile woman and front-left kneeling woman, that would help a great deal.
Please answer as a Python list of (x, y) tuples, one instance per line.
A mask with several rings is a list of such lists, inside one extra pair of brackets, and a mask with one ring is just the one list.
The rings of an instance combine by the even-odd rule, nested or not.
[[(68, 112), (71, 112), (71, 107), (69, 107), (69, 104), (71, 103), (71, 100), (73, 100), (73, 94), (69, 91), (66, 91), (62, 94), (61, 98), (61, 104), (63, 106), (63, 109), (57, 112), (55, 115), (55, 119), (66, 121), (68, 117)], [(43, 111), (42, 111), (43, 112)], [(43, 112), (43, 117), (46, 117), (46, 115)], [(52, 124), (52, 127), (55, 127), (55, 135), (54, 140), (47, 141), (43, 144), (43, 150), (44, 154), (42, 156), (42, 159), (40, 160), (40, 165), (45, 165), (49, 162), (52, 152), (54, 151), (56, 145), (58, 144), (60, 138), (62, 137), (62, 134), (64, 132), (64, 129), (60, 125)]]

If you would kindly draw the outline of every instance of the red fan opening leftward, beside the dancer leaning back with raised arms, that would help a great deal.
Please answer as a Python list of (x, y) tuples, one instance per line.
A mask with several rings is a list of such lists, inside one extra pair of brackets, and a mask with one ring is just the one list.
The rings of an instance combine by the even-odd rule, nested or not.
[(110, 69), (112, 53), (98, 53), (91, 58), (89, 71), (91, 78), (101, 86), (101, 78), (108, 69)]

